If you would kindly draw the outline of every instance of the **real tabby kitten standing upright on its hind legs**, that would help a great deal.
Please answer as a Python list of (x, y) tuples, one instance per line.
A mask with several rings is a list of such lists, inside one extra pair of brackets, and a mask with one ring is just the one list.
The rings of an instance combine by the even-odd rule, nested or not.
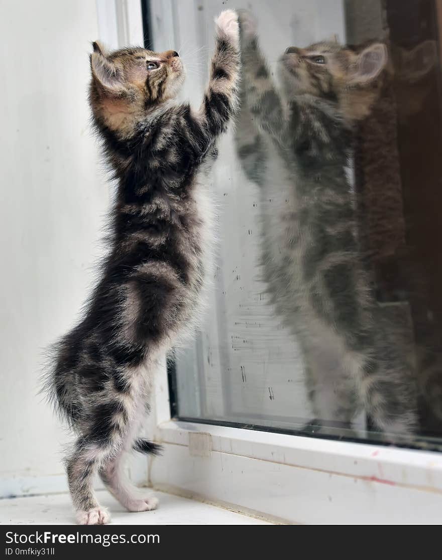
[(238, 105), (238, 17), (216, 19), (216, 47), (201, 108), (177, 104), (184, 81), (178, 53), (94, 43), (90, 104), (118, 179), (111, 248), (86, 314), (56, 346), (49, 391), (78, 433), (66, 459), (80, 524), (105, 524), (92, 475), (129, 511), (157, 500), (122, 474), (132, 449), (159, 446), (138, 437), (152, 370), (197, 319), (212, 238), (207, 172), (216, 140)]

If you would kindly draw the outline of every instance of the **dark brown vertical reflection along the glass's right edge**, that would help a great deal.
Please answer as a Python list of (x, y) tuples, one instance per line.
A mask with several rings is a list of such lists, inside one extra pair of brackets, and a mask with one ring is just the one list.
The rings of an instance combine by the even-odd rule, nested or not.
[[(435, 240), (442, 235), (439, 208), (442, 204), (440, 145), (442, 113), (440, 99), (442, 57), (440, 0), (413, 0), (401, 12), (401, 0), (387, 0), (390, 37), (397, 45), (416, 48), (422, 41), (438, 40), (439, 65), (429, 68), (422, 81), (395, 80), (398, 99), (398, 150), (401, 164), (407, 251), (402, 266), (404, 285), (410, 303), (413, 334), (416, 340), (417, 384), (420, 394), (418, 412), (422, 433), (439, 433), (438, 404), (432, 394), (440, 390), (442, 378), (433, 372), (441, 361), (442, 329), (442, 253)], [(417, 18), (416, 16), (420, 17)], [(424, 25), (426, 24), (426, 25)], [(413, 100), (413, 106), (408, 106)], [(416, 138), (419, 147), (416, 149)], [(434, 365), (430, 366), (433, 362)], [(428, 384), (428, 385), (427, 385)], [(437, 399), (436, 399), (437, 400)]]

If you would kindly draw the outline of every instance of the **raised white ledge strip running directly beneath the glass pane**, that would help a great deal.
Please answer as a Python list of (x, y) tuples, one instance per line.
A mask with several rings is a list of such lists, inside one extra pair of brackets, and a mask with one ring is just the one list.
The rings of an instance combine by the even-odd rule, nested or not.
[(159, 426), (168, 444), (189, 446), (198, 433), (210, 436), (210, 451), (442, 493), (442, 454), (430, 451), (173, 420)]

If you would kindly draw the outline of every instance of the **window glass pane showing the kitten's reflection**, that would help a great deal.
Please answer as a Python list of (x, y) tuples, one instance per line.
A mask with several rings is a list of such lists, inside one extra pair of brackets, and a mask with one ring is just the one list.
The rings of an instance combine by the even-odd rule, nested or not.
[[(194, 104), (226, 7), (170, 15)], [(241, 106), (213, 169), (207, 312), (170, 366), (176, 416), (436, 447), (441, 3), (237, 7)]]

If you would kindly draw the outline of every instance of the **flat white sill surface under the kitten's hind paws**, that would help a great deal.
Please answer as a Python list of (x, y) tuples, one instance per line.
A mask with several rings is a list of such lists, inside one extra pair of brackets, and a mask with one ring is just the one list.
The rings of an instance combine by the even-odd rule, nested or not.
[[(109, 508), (113, 525), (272, 525), (208, 503), (155, 492), (155, 511), (128, 513), (108, 492), (97, 492)], [(70, 525), (74, 522), (68, 494), (49, 494), (0, 500), (0, 525)]]

